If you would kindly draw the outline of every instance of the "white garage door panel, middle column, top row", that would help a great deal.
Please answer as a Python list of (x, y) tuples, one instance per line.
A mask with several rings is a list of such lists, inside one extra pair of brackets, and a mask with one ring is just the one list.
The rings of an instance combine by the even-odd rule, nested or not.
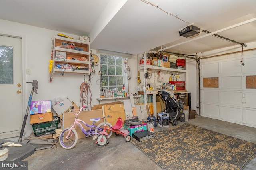
[(222, 61), (221, 64), (221, 73), (242, 73), (241, 61)]

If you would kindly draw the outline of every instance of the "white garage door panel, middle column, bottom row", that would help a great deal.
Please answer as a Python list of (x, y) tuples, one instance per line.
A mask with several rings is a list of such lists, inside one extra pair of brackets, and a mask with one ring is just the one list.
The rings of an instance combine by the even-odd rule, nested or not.
[(221, 118), (223, 119), (240, 123), (242, 120), (242, 113), (243, 113), (242, 108), (226, 107), (226, 106), (221, 107)]

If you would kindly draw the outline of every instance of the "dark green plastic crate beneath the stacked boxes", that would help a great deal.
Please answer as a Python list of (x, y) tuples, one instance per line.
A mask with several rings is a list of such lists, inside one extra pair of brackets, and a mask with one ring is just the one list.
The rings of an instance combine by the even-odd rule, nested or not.
[[(58, 116), (54, 116), (53, 118), (55, 117), (58, 117)], [(33, 124), (32, 127), (34, 130), (35, 136), (38, 134), (54, 131), (58, 127), (58, 123), (59, 123), (59, 120)]]

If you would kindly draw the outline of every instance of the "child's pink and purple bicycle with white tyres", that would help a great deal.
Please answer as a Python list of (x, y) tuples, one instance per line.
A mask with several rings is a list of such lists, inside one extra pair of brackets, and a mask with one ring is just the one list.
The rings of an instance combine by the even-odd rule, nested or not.
[[(73, 106), (70, 108), (74, 109)], [(73, 110), (74, 115), (76, 115), (74, 123), (70, 127), (63, 129), (62, 132), (60, 132), (59, 143), (60, 143), (60, 146), (64, 149), (72, 149), (76, 145), (78, 141), (76, 125), (80, 127), (82, 132), (87, 137), (93, 136), (93, 140), (97, 138), (98, 134), (101, 134), (101, 132), (103, 132), (104, 127), (108, 127), (109, 129), (112, 127), (112, 125), (109, 122), (102, 122), (99, 125), (95, 126), (95, 123), (100, 121), (100, 117), (90, 119), (90, 121), (92, 121), (92, 125), (88, 125), (81, 119), (78, 119), (78, 116), (83, 108), (85, 108), (85, 106), (83, 106), (81, 109)], [(79, 112), (77, 113), (77, 111)], [(85, 130), (81, 123), (86, 125), (87, 127), (90, 127), (90, 129)], [(104, 130), (104, 134), (106, 134), (107, 137), (110, 138), (110, 136), (112, 135), (112, 131)]]

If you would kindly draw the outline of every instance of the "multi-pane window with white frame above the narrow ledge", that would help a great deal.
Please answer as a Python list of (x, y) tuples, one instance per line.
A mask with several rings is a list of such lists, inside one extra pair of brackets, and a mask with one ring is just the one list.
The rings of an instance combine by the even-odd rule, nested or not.
[(124, 73), (124, 58), (112, 55), (100, 55), (100, 71), (102, 72), (103, 89), (122, 91), (123, 85), (126, 87)]

